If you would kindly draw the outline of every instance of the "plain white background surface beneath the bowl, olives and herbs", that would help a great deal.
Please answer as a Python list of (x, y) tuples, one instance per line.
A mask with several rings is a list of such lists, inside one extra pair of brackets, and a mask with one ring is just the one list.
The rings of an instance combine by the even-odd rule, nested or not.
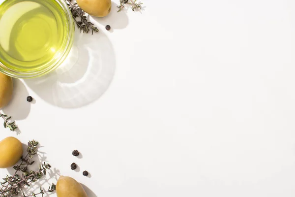
[(15, 80), (3, 112), (21, 133), (0, 138), (38, 140), (48, 182), (89, 197), (294, 197), (295, 1), (142, 2), (114, 2), (65, 66)]

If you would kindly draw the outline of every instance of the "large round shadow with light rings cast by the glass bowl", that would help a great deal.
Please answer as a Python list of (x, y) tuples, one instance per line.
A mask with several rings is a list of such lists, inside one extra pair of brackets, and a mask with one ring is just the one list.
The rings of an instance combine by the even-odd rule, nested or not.
[(104, 33), (91, 35), (76, 30), (66, 61), (48, 75), (25, 82), (53, 105), (78, 108), (103, 95), (113, 79), (115, 67), (114, 49)]

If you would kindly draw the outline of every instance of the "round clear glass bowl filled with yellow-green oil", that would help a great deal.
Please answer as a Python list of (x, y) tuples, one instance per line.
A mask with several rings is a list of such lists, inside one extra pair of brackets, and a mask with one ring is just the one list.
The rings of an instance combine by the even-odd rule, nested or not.
[[(51, 8), (53, 6), (55, 10), (54, 10), (54, 12), (50, 10), (51, 12), (49, 11), (49, 14), (50, 13), (58, 14), (60, 16), (59, 17), (60, 23), (58, 23), (59, 21), (56, 20), (56, 25), (55, 25), (54, 22), (52, 22), (52, 20), (50, 19), (50, 17), (44, 16), (42, 18), (42, 17), (39, 17), (39, 15), (38, 15), (33, 18), (33, 20), (37, 20), (37, 21), (34, 21), (34, 23), (33, 23), (34, 25), (32, 26), (31, 25), (32, 23), (30, 23), (31, 26), (29, 26), (28, 23), (25, 24), (27, 21), (22, 21), (22, 20), (26, 19), (24, 17), (25, 14), (27, 14), (27, 13), (25, 13), (27, 11), (24, 10), (24, 9), (26, 9), (25, 7), (26, 6), (28, 7), (29, 14), (31, 14), (31, 15), (34, 14), (35, 12), (37, 13), (37, 11), (32, 10), (33, 8), (31, 8), (32, 6), (29, 4), (26, 5), (25, 3), (23, 3), (21, 6), (19, 6), (20, 12), (24, 12), (24, 13), (23, 13), (23, 15), (19, 14), (19, 16), (17, 16), (17, 19), (15, 19), (15, 21), (17, 21), (17, 23), (15, 23), (15, 24), (17, 24), (17, 25), (10, 25), (10, 26), (13, 26), (13, 28), (15, 28), (14, 26), (22, 26), (21, 27), (22, 31), (24, 31), (23, 28), (27, 28), (26, 29), (27, 34), (23, 33), (23, 35), (20, 36), (19, 34), (21, 34), (21, 33), (17, 34), (19, 31), (15, 31), (15, 29), (13, 29), (13, 28), (11, 28), (11, 30), (9, 30), (9, 28), (6, 28), (6, 29), (1, 28), (2, 29), (1, 32), (5, 32), (5, 31), (7, 31), (7, 32), (0, 33), (0, 72), (4, 73), (6, 75), (9, 75), (11, 77), (15, 77), (15, 78), (39, 77), (39, 76), (49, 73), (50, 71), (56, 69), (57, 67), (59, 67), (62, 64), (62, 62), (65, 60), (65, 58), (68, 56), (68, 54), (71, 50), (72, 44), (73, 44), (74, 27), (75, 26), (74, 26), (74, 20), (72, 18), (71, 11), (69, 10), (68, 5), (64, 0), (32, 0), (32, 1), (26, 1), (26, 0), (19, 1), (18, 0), (17, 2), (14, 2), (14, 0), (5, 0), (0, 4), (0, 25), (1, 25), (1, 20), (2, 20), (2, 23), (3, 23), (3, 21), (5, 21), (4, 17), (9, 18), (9, 21), (11, 21), (10, 20), (11, 13), (14, 15), (16, 13), (16, 11), (15, 10), (13, 11), (11, 7), (14, 6), (13, 9), (16, 9), (15, 4), (17, 4), (19, 2), (26, 2), (26, 3), (33, 2), (35, 4), (38, 4), (38, 2), (41, 2), (41, 1), (43, 1), (42, 3), (48, 2), (48, 3), (54, 4), (54, 5), (50, 4)], [(0, 0), (0, 2), (1, 2), (1, 0)], [(35, 4), (32, 4), (32, 5), (35, 5)], [(40, 3), (40, 5), (41, 5), (41, 3)], [(46, 8), (46, 6), (45, 6), (45, 8)], [(10, 15), (9, 15), (9, 11), (11, 12)], [(32, 11), (35, 11), (35, 12), (32, 12)], [(38, 11), (41, 12), (41, 15), (43, 14), (42, 10), (39, 9)], [(38, 14), (40, 14), (39, 12), (38, 12)], [(6, 14), (6, 16), (5, 16), (5, 14)], [(48, 19), (49, 23), (48, 23), (48, 21), (43, 22), (42, 20), (44, 18), (46, 20), (49, 18)], [(29, 20), (31, 20), (31, 18), (29, 18)], [(38, 20), (40, 23), (38, 23)], [(21, 24), (21, 25), (19, 25), (19, 24)], [(54, 26), (52, 27), (49, 24), (51, 24), (51, 25), (53, 24)], [(9, 26), (9, 25), (6, 25), (6, 26)], [(42, 29), (42, 26), (44, 26), (44, 27), (46, 26), (46, 28)], [(18, 30), (17, 28), (20, 29), (19, 27), (16, 27), (16, 30)], [(61, 28), (62, 33), (55, 31), (55, 29), (58, 30), (58, 28)], [(54, 30), (52, 30), (52, 29), (54, 29)], [(50, 34), (51, 30), (55, 31), (54, 32), (55, 36)], [(30, 34), (30, 31), (31, 32), (33, 31), (33, 32)], [(17, 34), (17, 35), (14, 36), (13, 33)], [(59, 35), (59, 34), (61, 34), (61, 35)], [(2, 36), (2, 38), (1, 38), (1, 36)], [(3, 37), (5, 37), (5, 36), (8, 37), (10, 39), (10, 41), (6, 41), (7, 39), (3, 39)], [(37, 37), (41, 36), (41, 40), (42, 41), (45, 40), (45, 45), (43, 45), (43, 42), (35, 41), (34, 38), (36, 36)], [(20, 39), (19, 37), (22, 38), (22, 40), (21, 40), (22, 45), (18, 43), (18, 40)], [(42, 39), (42, 38), (44, 38), (44, 39)], [(11, 41), (11, 40), (13, 40), (13, 41)], [(50, 44), (53, 43), (52, 40), (54, 40), (54, 41), (58, 40), (58, 42), (56, 42), (58, 44), (54, 45), (55, 47), (50, 46)], [(13, 44), (11, 44), (11, 42)], [(36, 42), (36, 43), (34, 43), (34, 42)], [(32, 47), (34, 47), (35, 45), (38, 47), (42, 47), (42, 50), (39, 50), (39, 48), (33, 48), (35, 53), (30, 53), (30, 51), (26, 49), (26, 46), (28, 46), (28, 45), (26, 45), (24, 43), (27, 43), (27, 44), (29, 43), (29, 46), (32, 46)], [(20, 47), (22, 47), (22, 48), (20, 48)], [(30, 49), (32, 49), (32, 48), (30, 48)], [(4, 55), (3, 55), (3, 51), (4, 51)], [(22, 51), (22, 53), (20, 51)], [(48, 56), (46, 56), (47, 52), (48, 52)], [(18, 59), (14, 58), (14, 54), (17, 54), (15, 57), (20, 57), (20, 58), (18, 58)], [(23, 54), (26, 54), (27, 57), (25, 58), (25, 56)], [(35, 55), (35, 54), (38, 54), (38, 55)], [(13, 57), (13, 58), (11, 58), (11, 57)], [(46, 57), (46, 58), (44, 58), (44, 57)], [(13, 61), (10, 61), (10, 60), (13, 60)]]

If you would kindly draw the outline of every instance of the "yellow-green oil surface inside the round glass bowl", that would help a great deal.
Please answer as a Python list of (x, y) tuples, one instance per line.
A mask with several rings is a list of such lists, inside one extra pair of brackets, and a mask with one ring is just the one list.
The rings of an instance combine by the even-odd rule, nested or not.
[(48, 66), (66, 36), (55, 0), (6, 0), (0, 5), (0, 62), (19, 71)]

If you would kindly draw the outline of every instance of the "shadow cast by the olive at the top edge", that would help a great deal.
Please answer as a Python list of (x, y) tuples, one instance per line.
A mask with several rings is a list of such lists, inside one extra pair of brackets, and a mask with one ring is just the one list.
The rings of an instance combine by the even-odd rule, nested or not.
[(124, 29), (128, 25), (128, 16), (126, 14), (126, 10), (123, 9), (120, 12), (118, 11), (118, 4), (112, 2), (112, 9), (111, 12), (105, 17), (93, 17), (92, 18), (99, 24), (103, 26), (110, 25), (112, 32), (114, 29)]

